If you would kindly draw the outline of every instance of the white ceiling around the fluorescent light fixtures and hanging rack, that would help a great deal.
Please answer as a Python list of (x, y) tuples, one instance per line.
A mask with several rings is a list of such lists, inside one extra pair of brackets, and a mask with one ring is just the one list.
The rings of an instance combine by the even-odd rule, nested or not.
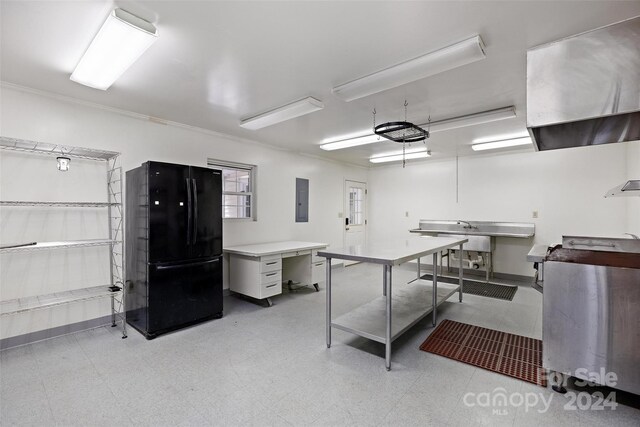
[[(107, 91), (70, 81), (114, 7), (155, 23), (158, 41)], [(516, 108), (515, 119), (434, 133), (432, 159), (471, 155), (474, 138), (523, 132), (526, 50), (640, 15), (640, 2), (2, 0), (0, 15), (5, 82), (368, 166), (369, 156), (399, 145), (318, 145), (371, 128), (374, 108), (378, 123), (402, 120), (405, 99), (415, 123)], [(486, 45), (482, 61), (352, 102), (331, 93), (475, 34)], [(239, 127), (306, 96), (325, 108), (257, 131)]]

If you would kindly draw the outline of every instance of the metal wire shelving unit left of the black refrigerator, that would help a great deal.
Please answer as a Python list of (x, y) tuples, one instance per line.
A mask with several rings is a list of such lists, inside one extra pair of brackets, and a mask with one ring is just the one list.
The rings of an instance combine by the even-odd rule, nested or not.
[(106, 208), (108, 212), (109, 235), (106, 239), (73, 240), (61, 242), (30, 242), (20, 245), (0, 247), (0, 254), (31, 252), (48, 249), (87, 248), (109, 246), (110, 283), (89, 286), (46, 295), (17, 298), (0, 301), (0, 316), (25, 313), (33, 310), (47, 309), (63, 304), (77, 303), (98, 298), (111, 300), (111, 326), (122, 325), (122, 338), (127, 337), (124, 310), (124, 224), (122, 209), (122, 167), (119, 165), (120, 153), (114, 151), (94, 150), (90, 148), (71, 147), (66, 145), (28, 141), (15, 138), (0, 137), (0, 149), (15, 150), (40, 155), (64, 156), (95, 160), (106, 164), (106, 202), (94, 201), (0, 201), (0, 207), (35, 207), (35, 208)]

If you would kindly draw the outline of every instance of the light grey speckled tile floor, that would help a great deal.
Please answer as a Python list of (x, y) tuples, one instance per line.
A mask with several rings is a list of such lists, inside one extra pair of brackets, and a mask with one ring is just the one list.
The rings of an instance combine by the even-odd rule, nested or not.
[[(415, 272), (394, 270), (394, 286)], [(333, 274), (337, 316), (382, 291), (381, 267)], [(430, 319), (384, 346), (334, 330), (325, 345), (324, 289), (274, 298), (263, 308), (225, 298), (225, 316), (146, 341), (99, 328), (0, 353), (0, 424), (5, 425), (588, 425), (638, 426), (640, 411), (567, 411), (567, 399), (531, 384), (419, 350)], [(448, 318), (541, 337), (541, 295), (514, 301), (465, 295)], [(504, 390), (551, 397), (549, 409), (465, 404), (467, 393)], [(467, 399), (467, 402), (469, 400)]]

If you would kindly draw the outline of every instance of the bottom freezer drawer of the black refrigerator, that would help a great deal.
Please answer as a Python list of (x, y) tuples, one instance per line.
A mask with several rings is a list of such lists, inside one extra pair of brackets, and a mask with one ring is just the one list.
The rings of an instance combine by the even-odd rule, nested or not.
[(149, 266), (147, 337), (222, 316), (222, 257)]

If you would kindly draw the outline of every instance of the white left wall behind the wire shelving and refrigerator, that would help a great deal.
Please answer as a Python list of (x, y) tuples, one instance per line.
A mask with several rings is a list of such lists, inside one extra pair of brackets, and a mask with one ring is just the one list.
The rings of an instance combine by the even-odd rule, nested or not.
[[(163, 125), (13, 87), (2, 87), (1, 95), (2, 136), (118, 151), (122, 153), (124, 170), (147, 160), (206, 166), (207, 158), (215, 158), (257, 165), (258, 221), (225, 221), (226, 246), (274, 240), (320, 241), (341, 246), (343, 220), (338, 213), (343, 210), (344, 180), (366, 181), (367, 177), (364, 168), (301, 156), (213, 132)], [(0, 156), (0, 198), (3, 200), (56, 200), (68, 196), (75, 200), (101, 201), (106, 198), (100, 175), (103, 169), (86, 166), (83, 161), (73, 159), (70, 171), (62, 174), (55, 170), (52, 158), (5, 150)], [(40, 172), (32, 174), (32, 168)], [(99, 171), (98, 175), (95, 170)], [(296, 177), (309, 179), (308, 223), (295, 222)], [(55, 191), (52, 192), (52, 188)], [(68, 188), (69, 195), (62, 192), (63, 188)], [(99, 188), (97, 193), (93, 191), (95, 188)], [(106, 237), (106, 225), (95, 210), (54, 212), (49, 209), (38, 213), (35, 208), (30, 208), (32, 211), (20, 208), (24, 213), (21, 215), (15, 209), (2, 209), (2, 242)], [(11, 223), (6, 215), (9, 212)], [(31, 221), (28, 224), (25, 215)], [(80, 227), (81, 232), (79, 224), (85, 224)], [(100, 236), (102, 231), (104, 235)], [(0, 257), (0, 298), (48, 293), (51, 289), (55, 292), (66, 285), (73, 288), (96, 281), (100, 284), (105, 280), (105, 273), (108, 278), (108, 264), (105, 267), (99, 252), (95, 251), (91, 248), (75, 252), (4, 254)], [(75, 257), (78, 254), (82, 261)], [(53, 277), (48, 277), (51, 275)], [(53, 285), (48, 287), (51, 282)], [(105, 300), (102, 304), (74, 304), (3, 318), (0, 338), (100, 317), (108, 314), (107, 305)]]

